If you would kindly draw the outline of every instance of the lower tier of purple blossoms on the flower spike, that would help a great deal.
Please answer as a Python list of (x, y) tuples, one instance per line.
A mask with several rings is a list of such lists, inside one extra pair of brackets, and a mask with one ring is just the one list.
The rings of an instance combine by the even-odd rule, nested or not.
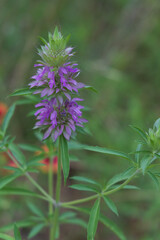
[(38, 120), (35, 127), (47, 128), (43, 139), (51, 135), (53, 141), (56, 141), (57, 137), (63, 134), (69, 140), (76, 126), (83, 127), (83, 123), (87, 120), (81, 118), (83, 106), (78, 105), (77, 101), (83, 101), (83, 99), (73, 98), (64, 101), (62, 97), (57, 97), (42, 100), (35, 106), (42, 107), (35, 113)]

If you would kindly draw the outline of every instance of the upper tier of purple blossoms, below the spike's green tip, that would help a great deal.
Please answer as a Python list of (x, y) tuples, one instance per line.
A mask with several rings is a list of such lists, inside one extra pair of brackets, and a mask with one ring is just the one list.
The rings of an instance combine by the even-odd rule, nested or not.
[(39, 67), (36, 75), (32, 77), (33, 82), (29, 84), (30, 88), (36, 87), (34, 94), (41, 94), (41, 97), (50, 96), (64, 92), (66, 97), (70, 99), (69, 92), (78, 92), (79, 88), (84, 84), (78, 83), (75, 78), (79, 75), (77, 64), (65, 63), (58, 70), (43, 64), (36, 64)]

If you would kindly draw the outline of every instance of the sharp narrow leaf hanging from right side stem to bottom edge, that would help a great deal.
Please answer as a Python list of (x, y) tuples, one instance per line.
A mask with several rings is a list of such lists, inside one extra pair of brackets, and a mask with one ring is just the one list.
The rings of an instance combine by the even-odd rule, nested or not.
[(98, 198), (90, 212), (90, 218), (87, 226), (87, 240), (94, 240), (100, 212), (100, 199)]

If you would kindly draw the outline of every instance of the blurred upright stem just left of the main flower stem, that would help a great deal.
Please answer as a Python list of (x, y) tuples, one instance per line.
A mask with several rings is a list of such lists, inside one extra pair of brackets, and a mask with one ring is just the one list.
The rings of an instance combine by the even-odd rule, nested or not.
[[(48, 191), (53, 198), (53, 157), (50, 157), (49, 173), (48, 173)], [(53, 204), (49, 202), (49, 215), (53, 215)], [(50, 240), (53, 239), (53, 227), (50, 228)]]

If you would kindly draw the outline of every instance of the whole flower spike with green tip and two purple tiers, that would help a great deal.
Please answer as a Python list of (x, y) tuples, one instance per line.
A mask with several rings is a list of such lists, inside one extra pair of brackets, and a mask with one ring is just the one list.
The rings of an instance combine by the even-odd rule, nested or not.
[(75, 97), (85, 85), (75, 80), (80, 70), (70, 61), (73, 48), (66, 47), (66, 41), (57, 28), (53, 35), (49, 34), (48, 43), (43, 39), (45, 46), (39, 50), (43, 61), (35, 65), (38, 69), (29, 83), (33, 93), (42, 98), (35, 106), (40, 107), (35, 113), (35, 128), (45, 131), (43, 139), (51, 136), (53, 141), (61, 134), (70, 140), (76, 126), (83, 127), (87, 122), (82, 118), (83, 106), (77, 103), (83, 99)]

